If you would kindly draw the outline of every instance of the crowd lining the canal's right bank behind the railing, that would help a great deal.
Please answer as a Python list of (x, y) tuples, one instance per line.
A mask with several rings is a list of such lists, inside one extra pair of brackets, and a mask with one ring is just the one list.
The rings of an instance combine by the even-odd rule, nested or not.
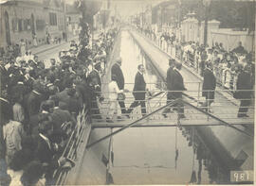
[[(140, 31), (157, 42), (153, 29)], [(215, 42), (210, 47), (198, 42), (178, 41), (173, 30), (172, 32), (163, 31), (159, 35), (158, 44), (167, 52), (175, 48), (175, 56), (194, 68), (200, 76), (204, 76), (206, 64), (212, 63), (217, 83), (231, 91), (237, 90), (237, 77), (244, 69), (249, 69), (252, 85), (255, 82), (255, 55), (252, 51), (247, 52), (242, 42), (238, 42), (238, 46), (233, 50), (227, 51), (222, 42)]]

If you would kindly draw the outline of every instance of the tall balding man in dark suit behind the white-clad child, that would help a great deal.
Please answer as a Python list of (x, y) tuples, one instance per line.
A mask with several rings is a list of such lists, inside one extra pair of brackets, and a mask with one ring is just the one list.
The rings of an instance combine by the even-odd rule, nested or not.
[[(123, 90), (124, 88), (124, 77), (121, 71), (121, 58), (117, 59), (116, 63), (111, 68), (111, 76), (117, 76), (117, 83), (119, 90)], [(125, 104), (123, 100), (119, 100), (119, 106), (121, 109), (121, 113), (124, 114), (126, 112)]]

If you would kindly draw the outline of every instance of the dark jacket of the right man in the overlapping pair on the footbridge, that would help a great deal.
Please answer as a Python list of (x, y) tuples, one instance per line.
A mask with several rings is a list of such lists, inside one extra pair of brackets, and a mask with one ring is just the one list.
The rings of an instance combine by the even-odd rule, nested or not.
[(184, 86), (183, 77), (181, 74), (174, 70), (174, 91), (180, 91), (180, 92), (174, 92), (174, 99), (182, 97), (182, 91), (186, 91), (186, 88)]

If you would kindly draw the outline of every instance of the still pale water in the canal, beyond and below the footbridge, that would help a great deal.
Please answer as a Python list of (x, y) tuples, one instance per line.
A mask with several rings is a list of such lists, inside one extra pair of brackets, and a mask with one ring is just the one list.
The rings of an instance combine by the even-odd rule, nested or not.
[[(121, 32), (120, 57), (128, 83), (125, 89), (132, 91), (129, 83), (134, 83), (137, 65), (143, 63), (149, 89), (157, 90), (160, 79), (127, 30)], [(134, 112), (140, 114), (139, 109)], [(189, 127), (128, 128), (113, 137), (112, 151), (115, 158), (110, 173), (115, 184), (226, 183), (225, 170), (200, 143), (196, 130)]]

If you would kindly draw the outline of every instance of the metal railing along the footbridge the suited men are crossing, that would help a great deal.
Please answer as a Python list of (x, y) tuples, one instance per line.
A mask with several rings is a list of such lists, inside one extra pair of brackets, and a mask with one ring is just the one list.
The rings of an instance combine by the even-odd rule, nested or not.
[[(215, 116), (222, 118), (224, 120), (236, 120), (237, 119), (237, 114), (238, 113), (244, 113), (244, 112), (239, 112), (240, 109), (246, 109), (248, 110), (248, 115), (249, 117), (247, 120), (253, 120), (254, 117), (254, 97), (250, 96), (247, 98), (243, 99), (237, 99), (237, 98), (229, 98), (227, 100), (225, 97), (220, 97), (217, 95), (217, 93), (220, 92), (228, 92), (229, 90), (219, 90), (218, 92), (215, 93), (215, 98), (209, 98), (206, 99), (205, 97), (202, 96), (202, 91), (199, 89), (201, 87), (200, 83), (196, 83), (196, 86), (194, 86), (195, 90), (188, 90), (186, 92), (183, 92), (183, 99), (188, 102), (189, 104), (192, 104), (196, 108), (206, 110), (207, 112), (213, 113)], [(129, 83), (128, 83), (129, 84)], [(253, 90), (239, 90), (237, 93), (252, 93)], [(215, 92), (212, 90), (206, 91), (208, 94)], [(104, 98), (104, 101), (101, 102), (101, 104), (98, 102), (98, 100), (94, 100), (94, 102), (98, 102), (99, 108), (92, 108), (91, 110), (92, 113), (95, 113), (94, 110), (99, 110), (98, 113), (92, 114), (92, 116), (101, 116), (101, 119), (97, 119), (97, 121), (102, 122), (105, 121), (105, 118), (108, 116), (110, 110), (115, 110), (116, 112), (120, 112), (119, 104), (117, 104), (117, 107), (115, 109), (111, 109), (109, 107), (111, 102), (117, 102), (117, 100), (110, 100), (107, 97), (108, 92), (104, 92), (106, 94), (106, 97)], [(135, 98), (133, 93), (146, 93), (146, 99), (145, 100), (138, 100), (138, 101), (145, 101), (146, 103), (146, 110), (147, 113), (152, 112), (153, 110), (157, 110), (159, 107), (163, 106), (167, 102), (167, 94), (168, 93), (181, 93), (180, 91), (164, 91), (164, 90), (154, 90), (151, 91), (151, 95), (145, 91), (139, 91), (139, 92), (130, 92), (130, 93), (125, 93), (125, 100), (123, 102), (126, 105), (126, 109), (129, 108), (129, 106), (134, 102)], [(156, 95), (156, 96), (155, 96)], [(210, 95), (209, 95), (210, 97)], [(232, 104), (232, 100), (239, 100), (239, 101), (248, 101), (250, 104), (247, 106), (235, 106)], [(213, 102), (213, 103), (211, 103)], [(172, 109), (175, 111), (171, 111), (172, 117), (162, 118), (161, 114), (162, 113), (155, 113), (154, 120), (175, 120), (174, 117), (174, 112), (179, 114), (180, 112), (177, 112), (176, 110), (178, 109), (179, 106), (173, 106)], [(201, 120), (201, 121), (206, 121), (209, 118), (205, 117), (205, 114), (202, 114), (201, 112), (195, 111), (195, 110), (190, 110), (187, 106), (184, 106), (185, 110), (185, 115), (189, 116), (188, 119), (190, 120)], [(119, 114), (119, 116), (125, 116), (126, 114)], [(138, 111), (137, 114), (131, 114), (136, 117), (140, 117), (140, 112)], [(124, 118), (119, 118), (117, 121), (122, 121)], [(246, 120), (246, 119), (245, 119)]]

